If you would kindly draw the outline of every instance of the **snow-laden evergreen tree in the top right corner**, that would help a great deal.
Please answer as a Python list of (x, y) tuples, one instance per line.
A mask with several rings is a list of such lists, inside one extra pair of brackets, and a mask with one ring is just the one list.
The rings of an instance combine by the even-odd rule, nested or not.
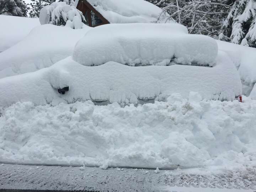
[(224, 21), (220, 40), (256, 47), (256, 2), (236, 0)]

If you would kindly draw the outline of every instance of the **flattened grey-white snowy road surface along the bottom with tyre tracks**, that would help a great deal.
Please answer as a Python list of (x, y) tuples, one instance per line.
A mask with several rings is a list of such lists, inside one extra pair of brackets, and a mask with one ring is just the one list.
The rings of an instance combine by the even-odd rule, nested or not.
[(147, 192), (254, 192), (255, 168), (146, 170), (0, 164), (0, 189)]

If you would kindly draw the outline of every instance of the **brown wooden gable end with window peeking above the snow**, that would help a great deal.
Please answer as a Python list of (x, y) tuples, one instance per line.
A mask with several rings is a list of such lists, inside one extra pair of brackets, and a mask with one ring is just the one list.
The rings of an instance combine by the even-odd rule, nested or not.
[(83, 13), (86, 20), (85, 24), (90, 27), (96, 27), (110, 23), (86, 0), (79, 0), (76, 8)]

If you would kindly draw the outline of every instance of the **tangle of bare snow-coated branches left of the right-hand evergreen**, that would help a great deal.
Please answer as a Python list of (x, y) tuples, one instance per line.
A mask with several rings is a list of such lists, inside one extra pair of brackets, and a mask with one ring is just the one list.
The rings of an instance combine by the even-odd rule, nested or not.
[(217, 38), (222, 18), (228, 14), (226, 0), (149, 0), (167, 12), (166, 20), (174, 19), (188, 27), (188, 32)]

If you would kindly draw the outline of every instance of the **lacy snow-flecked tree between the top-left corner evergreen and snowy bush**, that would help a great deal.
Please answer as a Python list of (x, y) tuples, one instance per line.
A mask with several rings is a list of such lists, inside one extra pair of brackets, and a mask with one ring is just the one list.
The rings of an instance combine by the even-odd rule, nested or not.
[(39, 17), (40, 10), (46, 6), (50, 5), (55, 0), (31, 0), (32, 2), (29, 4), (31, 6), (31, 10), (29, 12), (30, 17)]

